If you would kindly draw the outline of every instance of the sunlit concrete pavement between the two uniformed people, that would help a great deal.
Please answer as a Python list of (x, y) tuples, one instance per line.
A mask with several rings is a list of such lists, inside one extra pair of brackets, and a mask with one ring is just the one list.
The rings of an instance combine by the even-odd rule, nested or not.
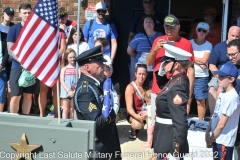
[(153, 156), (153, 149), (143, 148), (143, 142), (147, 140), (147, 130), (142, 128), (136, 140), (129, 139), (131, 130), (130, 124), (126, 120), (126, 110), (121, 109), (123, 117), (118, 121), (117, 128), (122, 150), (122, 160), (148, 160)]

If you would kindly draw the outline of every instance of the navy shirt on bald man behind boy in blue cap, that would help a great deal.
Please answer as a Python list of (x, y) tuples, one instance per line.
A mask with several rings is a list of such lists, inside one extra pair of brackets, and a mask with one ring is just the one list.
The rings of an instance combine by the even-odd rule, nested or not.
[(229, 58), (227, 57), (226, 54), (227, 54), (226, 41), (216, 44), (211, 51), (210, 58), (208, 60), (209, 64), (214, 64), (218, 69), (220, 69), (224, 63), (229, 61)]

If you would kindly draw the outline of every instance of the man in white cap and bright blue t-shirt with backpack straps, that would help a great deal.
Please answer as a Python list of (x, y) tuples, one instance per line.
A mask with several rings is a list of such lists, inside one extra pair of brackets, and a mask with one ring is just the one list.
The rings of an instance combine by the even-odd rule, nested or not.
[(93, 48), (94, 42), (97, 38), (106, 38), (108, 46), (104, 50), (104, 55), (108, 55), (111, 60), (115, 58), (117, 51), (117, 30), (114, 23), (106, 19), (107, 8), (104, 2), (96, 4), (96, 18), (87, 21), (83, 28), (85, 41), (90, 48)]

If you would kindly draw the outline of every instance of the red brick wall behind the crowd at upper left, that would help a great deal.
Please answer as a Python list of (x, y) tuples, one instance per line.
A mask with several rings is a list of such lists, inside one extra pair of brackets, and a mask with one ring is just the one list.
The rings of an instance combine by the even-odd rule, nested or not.
[[(84, 18), (85, 9), (90, 4), (96, 4), (101, 0), (83, 0), (81, 3), (81, 18), (80, 18), (80, 24), (83, 25), (86, 22), (86, 19)], [(17, 23), (21, 21), (21, 19), (18, 17), (18, 7), (21, 3), (29, 3), (32, 5), (32, 8), (36, 5), (38, 0), (0, 0), (0, 17), (3, 15), (3, 10), (6, 7), (12, 7), (15, 10), (15, 16), (14, 16), (14, 23)], [(105, 0), (107, 7), (110, 6), (110, 0)], [(58, 0), (59, 7), (63, 6), (66, 7), (68, 10), (68, 17), (71, 20), (77, 21), (77, 14), (78, 14), (78, 0)], [(1, 18), (2, 21), (2, 18)]]

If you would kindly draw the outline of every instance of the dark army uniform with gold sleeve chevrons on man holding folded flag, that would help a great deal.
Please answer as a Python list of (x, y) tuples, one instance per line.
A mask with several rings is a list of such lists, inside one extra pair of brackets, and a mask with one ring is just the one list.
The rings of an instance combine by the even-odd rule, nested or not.
[[(115, 153), (121, 153), (115, 123), (116, 114), (114, 110), (112, 110), (109, 117), (105, 118), (103, 116), (102, 95), (103, 91), (101, 86), (93, 78), (81, 73), (74, 95), (74, 108), (77, 113), (77, 118), (79, 120), (95, 121), (95, 150), (101, 153), (112, 153), (112, 159), (119, 160), (121, 159), (120, 156), (117, 158), (115, 157)], [(105, 159), (108, 160), (109, 157), (106, 157)], [(100, 160), (105, 159), (101, 158)]]

